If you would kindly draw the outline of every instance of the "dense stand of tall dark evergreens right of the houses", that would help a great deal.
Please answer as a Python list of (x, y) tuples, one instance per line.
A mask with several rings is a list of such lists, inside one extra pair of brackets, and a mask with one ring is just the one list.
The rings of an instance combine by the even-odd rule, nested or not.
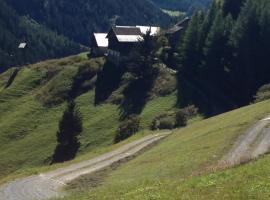
[(224, 0), (197, 12), (178, 45), (179, 81), (212, 88), (235, 106), (252, 101), (270, 82), (269, 10), (267, 0)]

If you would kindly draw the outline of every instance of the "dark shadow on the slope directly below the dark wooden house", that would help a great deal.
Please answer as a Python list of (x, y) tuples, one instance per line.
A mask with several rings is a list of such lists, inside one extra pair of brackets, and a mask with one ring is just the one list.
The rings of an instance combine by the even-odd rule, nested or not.
[(124, 68), (107, 61), (103, 70), (98, 73), (96, 81), (95, 105), (106, 101), (121, 82)]

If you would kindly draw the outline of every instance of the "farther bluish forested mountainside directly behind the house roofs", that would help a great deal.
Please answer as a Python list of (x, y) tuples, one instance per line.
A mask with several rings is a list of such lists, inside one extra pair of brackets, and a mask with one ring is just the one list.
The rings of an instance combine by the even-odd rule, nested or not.
[(20, 15), (29, 15), (70, 39), (89, 44), (89, 35), (109, 25), (168, 25), (169, 17), (148, 0), (6, 0)]

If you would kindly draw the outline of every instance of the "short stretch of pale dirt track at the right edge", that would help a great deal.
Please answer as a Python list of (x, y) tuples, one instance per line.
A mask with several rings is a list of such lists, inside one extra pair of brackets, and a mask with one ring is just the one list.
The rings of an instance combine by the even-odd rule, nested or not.
[(270, 150), (270, 116), (257, 122), (235, 143), (220, 165), (231, 167), (247, 162)]

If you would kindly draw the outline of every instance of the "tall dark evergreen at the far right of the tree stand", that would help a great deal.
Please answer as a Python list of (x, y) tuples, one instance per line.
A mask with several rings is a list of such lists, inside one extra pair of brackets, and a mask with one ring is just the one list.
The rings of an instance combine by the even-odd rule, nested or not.
[(270, 81), (269, 5), (265, 0), (248, 0), (232, 32), (232, 79), (239, 87), (242, 104), (251, 101), (257, 89)]

